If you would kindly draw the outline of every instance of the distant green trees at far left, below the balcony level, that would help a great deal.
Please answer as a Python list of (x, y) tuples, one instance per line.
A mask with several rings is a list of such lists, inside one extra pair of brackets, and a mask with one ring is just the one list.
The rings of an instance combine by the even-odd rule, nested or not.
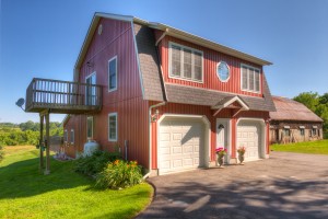
[[(62, 136), (60, 123), (50, 123), (50, 136)], [(21, 124), (0, 123), (0, 146), (35, 146), (38, 143), (38, 139), (39, 123), (33, 123), (32, 120)]]

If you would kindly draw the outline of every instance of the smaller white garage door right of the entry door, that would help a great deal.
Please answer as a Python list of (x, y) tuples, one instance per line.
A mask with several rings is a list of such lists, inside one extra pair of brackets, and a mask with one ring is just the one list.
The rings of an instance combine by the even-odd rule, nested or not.
[(245, 146), (245, 161), (259, 159), (260, 124), (258, 122), (241, 120), (237, 127), (237, 146)]

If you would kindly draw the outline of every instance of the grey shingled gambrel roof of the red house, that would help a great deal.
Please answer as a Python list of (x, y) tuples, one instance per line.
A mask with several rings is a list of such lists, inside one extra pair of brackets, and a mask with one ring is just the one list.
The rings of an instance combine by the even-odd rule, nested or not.
[[(101, 19), (120, 20), (124, 22), (130, 22), (131, 28), (134, 34), (134, 44), (137, 51), (137, 59), (139, 65), (140, 83), (142, 88), (143, 100), (150, 101), (167, 101), (172, 103), (183, 104), (196, 104), (214, 106), (218, 102), (226, 97), (236, 96), (234, 93), (225, 93), (214, 90), (204, 90), (192, 87), (184, 87), (178, 84), (165, 83), (161, 72), (161, 65), (159, 53), (156, 48), (156, 42), (154, 36), (154, 30), (160, 30), (165, 35), (174, 36), (233, 57), (241, 58), (246, 61), (259, 66), (271, 65), (271, 62), (257, 58), (255, 56), (238, 51), (236, 49), (216, 44), (206, 38), (192, 35), (190, 33), (171, 27), (165, 24), (148, 22), (134, 16), (117, 15), (109, 13), (95, 13), (89, 32), (84, 39), (83, 46), (79, 54), (74, 68), (74, 79), (79, 73), (79, 68), (82, 65), (83, 58), (87, 51), (89, 45), (92, 41), (93, 34), (96, 31), (96, 26)], [(248, 106), (254, 111), (276, 111), (269, 87), (266, 78), (263, 77), (263, 97), (254, 97), (247, 95), (238, 95)]]

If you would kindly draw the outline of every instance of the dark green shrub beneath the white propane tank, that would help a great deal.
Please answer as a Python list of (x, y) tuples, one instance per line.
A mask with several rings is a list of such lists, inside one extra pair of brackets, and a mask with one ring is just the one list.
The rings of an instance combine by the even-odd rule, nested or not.
[(92, 155), (80, 157), (74, 161), (73, 170), (86, 175), (95, 175), (104, 170), (107, 163), (120, 159), (118, 152), (95, 151)]

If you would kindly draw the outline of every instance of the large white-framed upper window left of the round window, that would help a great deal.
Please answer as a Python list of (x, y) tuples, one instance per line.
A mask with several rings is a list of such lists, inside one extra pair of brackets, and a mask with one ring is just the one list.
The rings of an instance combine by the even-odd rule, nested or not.
[(202, 82), (200, 50), (169, 43), (169, 77)]

